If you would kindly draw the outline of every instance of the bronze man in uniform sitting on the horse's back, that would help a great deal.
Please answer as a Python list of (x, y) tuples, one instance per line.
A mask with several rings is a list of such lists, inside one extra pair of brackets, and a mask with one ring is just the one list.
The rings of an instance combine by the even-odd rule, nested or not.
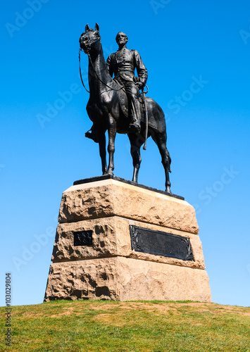
[[(127, 35), (125, 33), (118, 32), (115, 41), (119, 49), (116, 53), (108, 56), (106, 65), (111, 77), (114, 74), (114, 80), (121, 82), (125, 86), (131, 118), (131, 132), (140, 132), (141, 108), (139, 103), (139, 89), (142, 89), (146, 84), (148, 73), (138, 51), (127, 49)], [(135, 69), (137, 69), (137, 77), (135, 77)], [(95, 139), (93, 133), (87, 132), (85, 136)]]

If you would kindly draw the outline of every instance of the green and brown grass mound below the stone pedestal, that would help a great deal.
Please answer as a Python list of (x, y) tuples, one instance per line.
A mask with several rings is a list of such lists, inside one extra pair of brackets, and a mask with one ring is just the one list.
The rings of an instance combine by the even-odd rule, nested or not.
[[(1, 337), (6, 333), (1, 307)], [(11, 347), (34, 352), (250, 352), (250, 308), (165, 301), (13, 306)]]

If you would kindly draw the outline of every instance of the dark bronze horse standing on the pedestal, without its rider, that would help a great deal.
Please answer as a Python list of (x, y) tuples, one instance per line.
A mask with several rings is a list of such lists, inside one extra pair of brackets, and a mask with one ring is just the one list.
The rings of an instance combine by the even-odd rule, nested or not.
[[(104, 52), (101, 46), (99, 25), (95, 30), (86, 25), (85, 32), (80, 37), (80, 47), (89, 56), (89, 101), (87, 114), (93, 122), (93, 132), (99, 143), (99, 153), (103, 175), (113, 175), (115, 152), (115, 134), (127, 134), (130, 139), (131, 155), (134, 172), (132, 181), (137, 182), (140, 163), (142, 161), (140, 148), (145, 138), (152, 137), (161, 153), (163, 168), (165, 170), (165, 191), (170, 193), (170, 163), (171, 158), (166, 147), (167, 134), (165, 129), (165, 116), (161, 106), (153, 99), (146, 97), (148, 110), (148, 133), (146, 136), (145, 117), (142, 117), (141, 132), (130, 131), (130, 118), (126, 113), (127, 96), (120, 85), (116, 83), (106, 68)], [(144, 116), (142, 111), (142, 116)], [(106, 164), (106, 137), (108, 130), (108, 168)]]

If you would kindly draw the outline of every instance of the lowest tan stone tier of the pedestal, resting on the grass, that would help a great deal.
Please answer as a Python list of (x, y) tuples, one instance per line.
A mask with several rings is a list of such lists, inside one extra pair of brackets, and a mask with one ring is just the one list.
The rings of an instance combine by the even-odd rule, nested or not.
[(44, 301), (55, 299), (211, 302), (206, 271), (133, 258), (53, 263)]

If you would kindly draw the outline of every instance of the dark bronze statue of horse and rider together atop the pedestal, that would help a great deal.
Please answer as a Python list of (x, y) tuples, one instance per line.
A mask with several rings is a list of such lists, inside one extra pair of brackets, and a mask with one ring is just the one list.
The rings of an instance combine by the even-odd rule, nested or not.
[[(85, 32), (79, 40), (80, 48), (89, 57), (90, 96), (86, 109), (93, 122), (92, 139), (99, 143), (103, 175), (113, 175), (115, 134), (116, 132), (123, 133), (127, 134), (130, 139), (134, 166), (132, 181), (137, 182), (141, 163), (140, 148), (151, 136), (161, 153), (165, 170), (165, 191), (170, 193), (171, 159), (166, 147), (164, 113), (161, 106), (153, 99), (140, 98), (139, 89), (143, 89), (146, 84), (147, 70), (138, 52), (126, 48), (126, 34), (119, 32), (116, 40), (119, 49), (108, 57), (107, 64), (104, 60), (97, 23), (94, 30), (86, 25)], [(138, 77), (135, 77), (135, 68), (137, 68)], [(113, 73), (115, 73), (114, 79), (111, 77)], [(141, 126), (139, 126), (139, 121), (141, 121)], [(108, 168), (106, 165), (106, 130), (108, 130)]]

